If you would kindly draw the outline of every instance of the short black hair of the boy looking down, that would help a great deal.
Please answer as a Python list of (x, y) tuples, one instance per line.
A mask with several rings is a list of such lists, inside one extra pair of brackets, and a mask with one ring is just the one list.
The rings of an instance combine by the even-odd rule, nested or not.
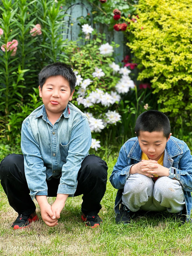
[(140, 131), (163, 131), (164, 136), (168, 139), (171, 132), (169, 118), (158, 110), (145, 111), (136, 120), (137, 137), (140, 135)]

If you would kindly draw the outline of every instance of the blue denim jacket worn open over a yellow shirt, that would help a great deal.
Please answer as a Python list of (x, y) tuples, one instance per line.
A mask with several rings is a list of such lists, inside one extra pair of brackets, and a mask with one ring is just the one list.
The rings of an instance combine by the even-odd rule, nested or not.
[[(114, 188), (117, 188), (115, 200), (115, 212), (119, 212), (119, 204), (122, 198), (122, 192), (126, 180), (129, 177), (129, 170), (132, 165), (137, 164), (142, 159), (142, 151), (137, 137), (131, 138), (125, 142), (119, 152), (117, 163), (110, 176), (110, 182)], [(176, 168), (176, 179), (182, 185), (184, 192), (184, 201), (187, 217), (191, 213), (191, 191), (192, 191), (192, 155), (187, 144), (173, 136), (168, 140), (165, 151), (163, 166)]]

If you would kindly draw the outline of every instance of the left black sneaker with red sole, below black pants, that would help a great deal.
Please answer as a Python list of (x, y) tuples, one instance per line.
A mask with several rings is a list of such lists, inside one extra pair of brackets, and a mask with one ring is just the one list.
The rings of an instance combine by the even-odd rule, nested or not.
[(13, 229), (26, 228), (31, 225), (32, 221), (37, 221), (38, 219), (36, 212), (29, 215), (19, 214), (11, 227), (13, 227)]

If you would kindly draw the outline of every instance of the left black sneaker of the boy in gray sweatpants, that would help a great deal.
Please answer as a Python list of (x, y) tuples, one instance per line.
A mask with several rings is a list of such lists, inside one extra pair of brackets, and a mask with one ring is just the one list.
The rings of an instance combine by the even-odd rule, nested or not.
[(135, 217), (135, 212), (132, 212), (130, 209), (127, 208), (124, 204), (121, 204), (119, 213), (116, 215), (116, 222), (128, 224), (131, 219)]

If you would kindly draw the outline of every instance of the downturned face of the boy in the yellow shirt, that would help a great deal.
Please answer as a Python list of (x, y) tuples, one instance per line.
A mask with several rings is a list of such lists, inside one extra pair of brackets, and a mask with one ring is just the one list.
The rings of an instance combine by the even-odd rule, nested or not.
[(170, 139), (167, 139), (163, 131), (140, 131), (138, 136), (139, 144), (143, 153), (145, 153), (149, 159), (158, 161), (163, 154), (166, 143)]

